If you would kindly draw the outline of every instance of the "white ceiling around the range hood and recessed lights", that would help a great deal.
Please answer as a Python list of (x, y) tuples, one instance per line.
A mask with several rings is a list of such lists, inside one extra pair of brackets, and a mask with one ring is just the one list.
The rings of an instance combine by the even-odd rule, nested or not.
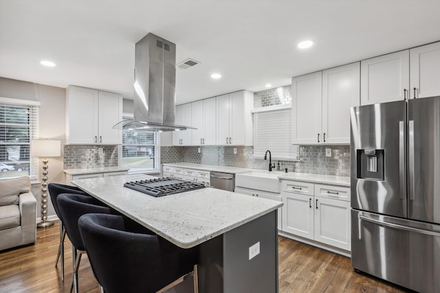
[(183, 104), (440, 40), (440, 0), (0, 0), (0, 77), (132, 98), (148, 32), (201, 62), (177, 69)]

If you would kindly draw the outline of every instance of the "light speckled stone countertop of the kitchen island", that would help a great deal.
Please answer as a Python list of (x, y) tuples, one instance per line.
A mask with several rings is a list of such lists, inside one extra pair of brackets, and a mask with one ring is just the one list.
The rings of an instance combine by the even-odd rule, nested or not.
[(181, 248), (197, 246), (283, 205), (211, 187), (155, 198), (123, 186), (151, 178), (135, 174), (72, 183)]

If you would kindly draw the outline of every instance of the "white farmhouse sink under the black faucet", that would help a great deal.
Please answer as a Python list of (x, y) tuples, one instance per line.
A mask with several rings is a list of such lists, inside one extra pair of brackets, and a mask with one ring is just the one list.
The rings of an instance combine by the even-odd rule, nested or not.
[(280, 192), (278, 176), (283, 172), (268, 172), (264, 170), (239, 173), (235, 175), (235, 186), (274, 193)]

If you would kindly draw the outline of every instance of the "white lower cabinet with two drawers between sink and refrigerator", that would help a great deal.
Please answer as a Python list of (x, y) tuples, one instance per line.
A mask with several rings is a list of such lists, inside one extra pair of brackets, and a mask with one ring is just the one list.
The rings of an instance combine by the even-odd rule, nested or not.
[[(288, 183), (287, 183), (288, 182)], [(292, 188), (298, 185), (298, 189)], [(343, 250), (351, 250), (349, 187), (282, 182), (283, 231)], [(289, 187), (289, 189), (285, 188)], [(303, 192), (301, 194), (301, 192)]]

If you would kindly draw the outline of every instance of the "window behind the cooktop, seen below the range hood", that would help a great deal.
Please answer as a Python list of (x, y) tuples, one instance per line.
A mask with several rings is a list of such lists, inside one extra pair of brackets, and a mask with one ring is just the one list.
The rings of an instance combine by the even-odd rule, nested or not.
[[(124, 120), (133, 117), (124, 117)], [(130, 173), (159, 171), (159, 134), (147, 130), (122, 130), (122, 166)]]

